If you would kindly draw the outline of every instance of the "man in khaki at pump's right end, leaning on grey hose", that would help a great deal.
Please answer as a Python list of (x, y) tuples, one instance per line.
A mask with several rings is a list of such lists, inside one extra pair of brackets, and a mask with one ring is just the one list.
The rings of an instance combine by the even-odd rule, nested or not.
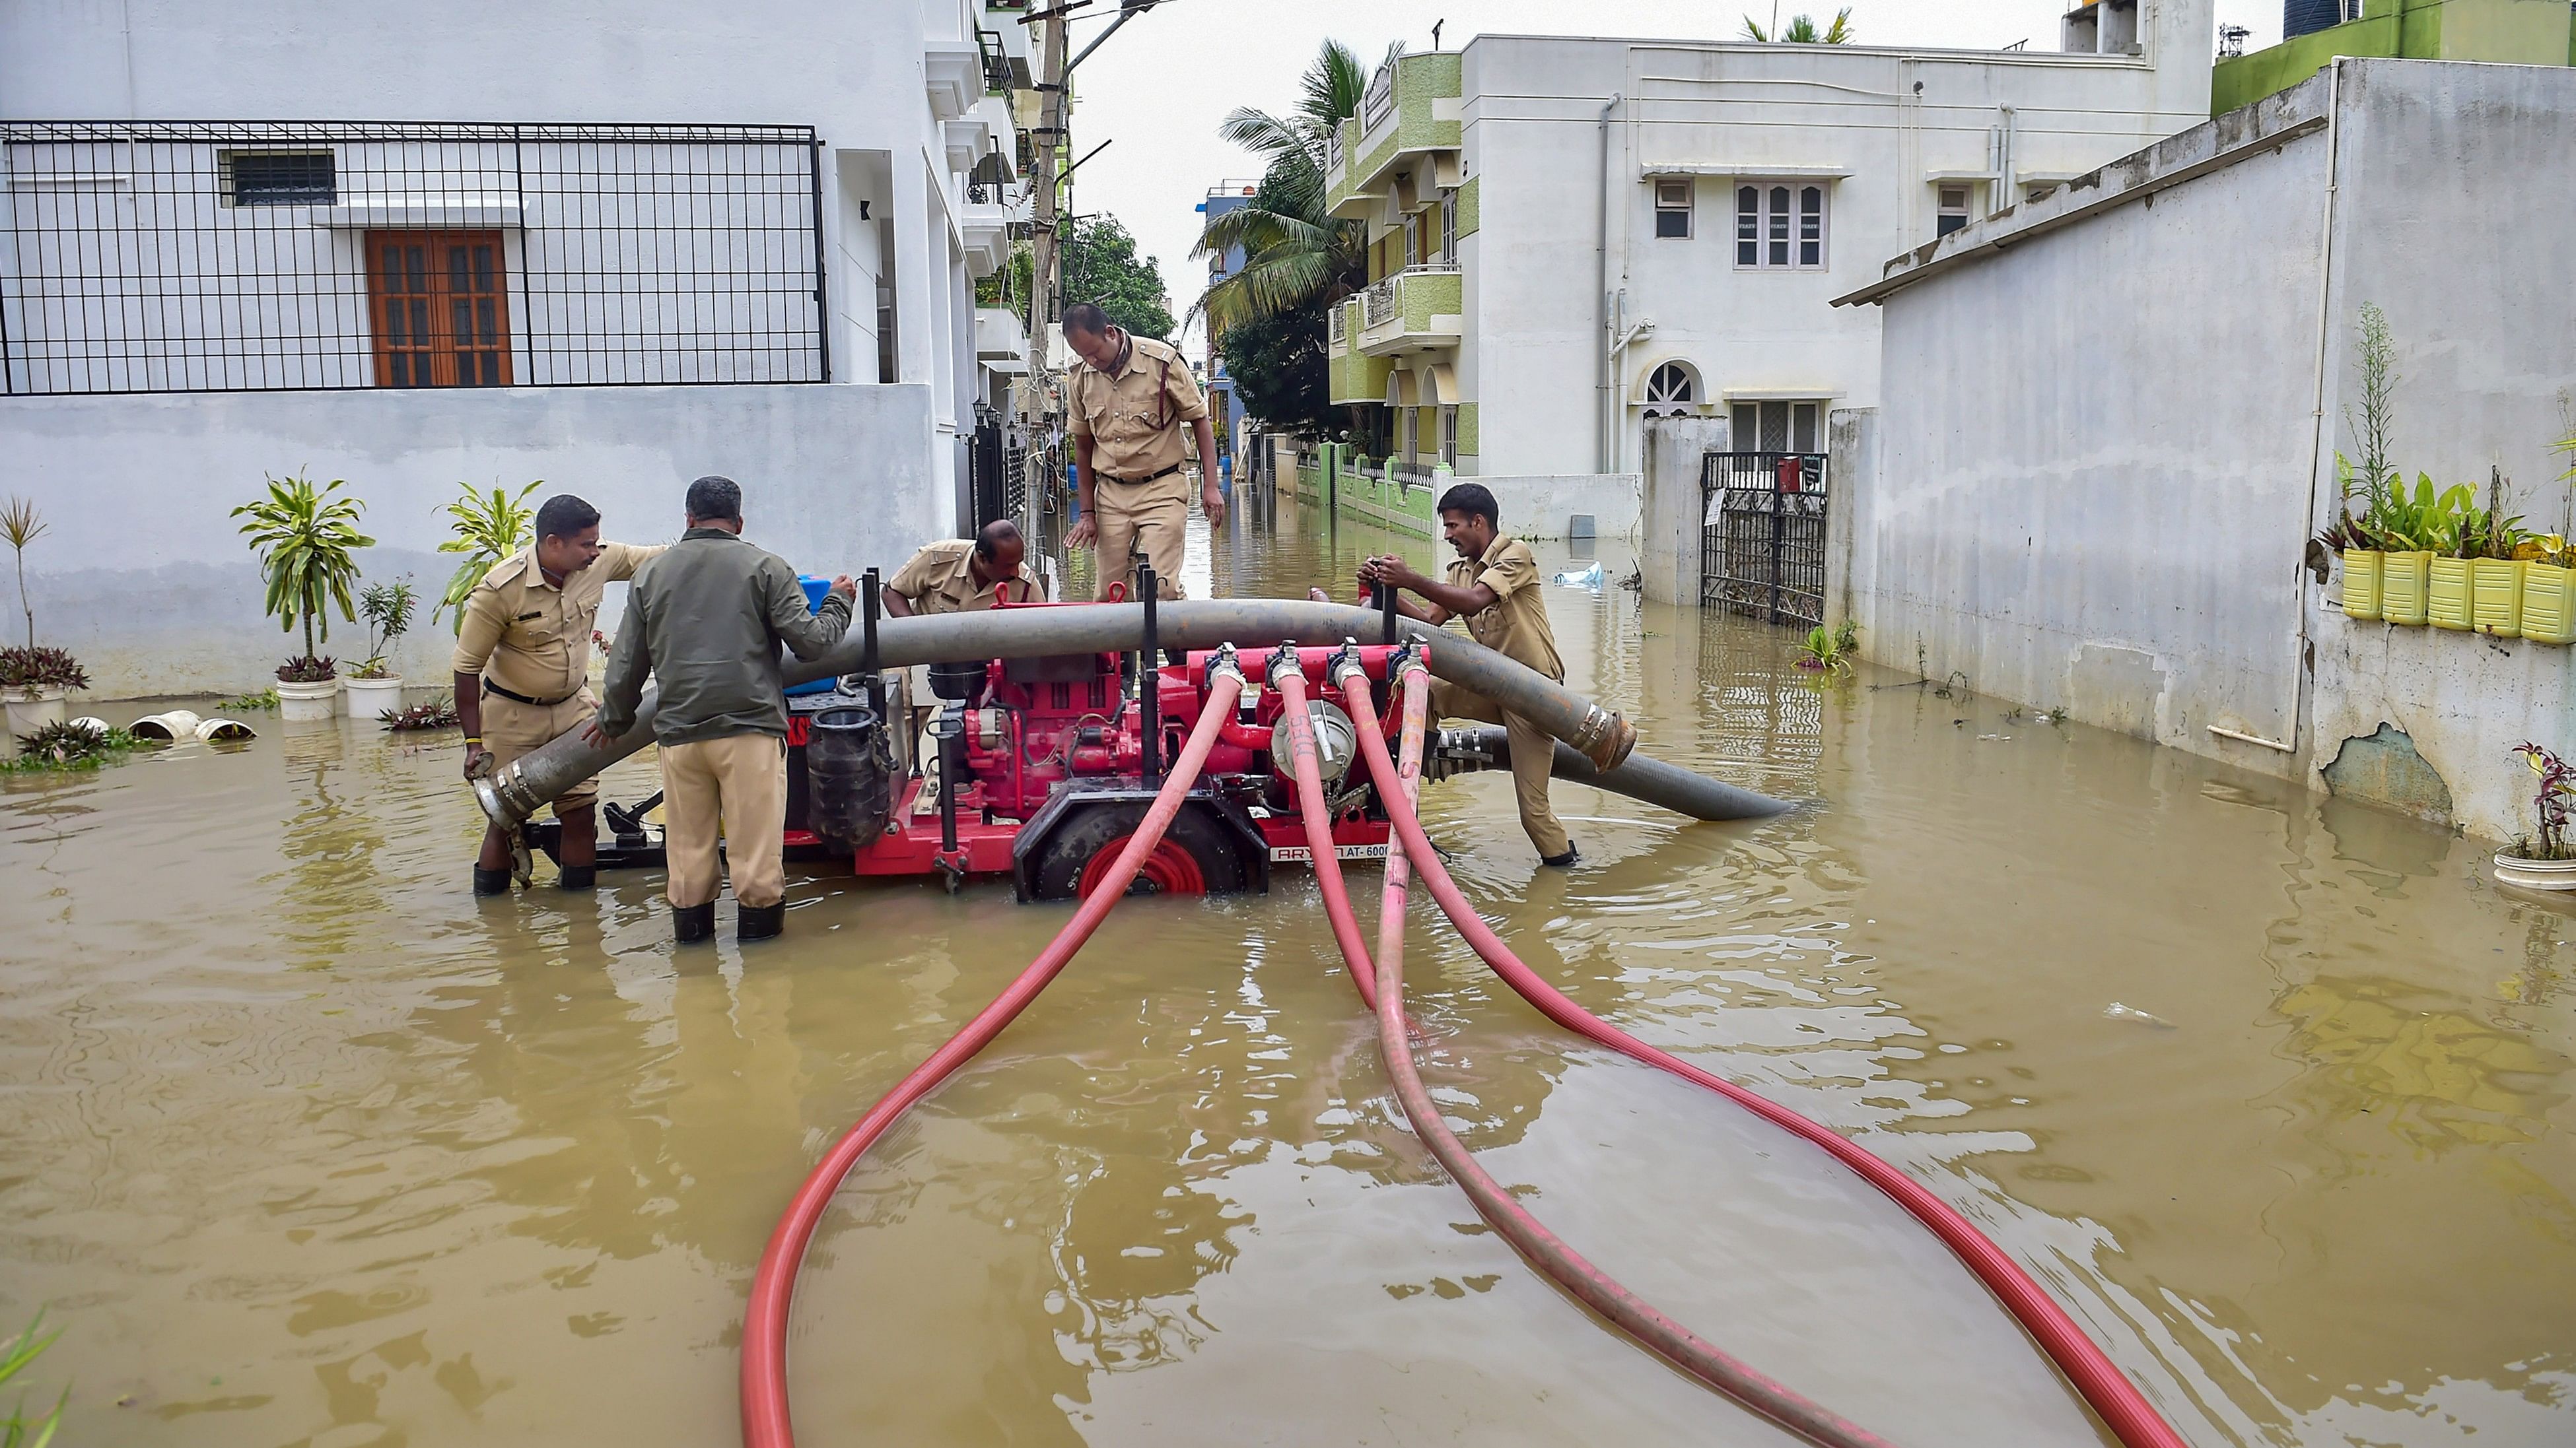
[[(1566, 662), (1556, 657), (1556, 631), (1548, 629), (1538, 559), (1528, 544), (1502, 533), (1502, 508), (1494, 495), (1476, 482), (1461, 482), (1443, 492), (1440, 533), (1458, 551), (1445, 580), (1432, 582), (1388, 554), (1360, 564), (1360, 585), (1388, 582), (1412, 590), (1427, 605), (1396, 598), (1404, 616), (1435, 626), (1466, 618), (1466, 631), (1486, 649), (1564, 683)], [(1520, 804), (1520, 827), (1538, 845), (1538, 863), (1566, 868), (1582, 858), (1556, 819), (1556, 809), (1548, 806), (1556, 739), (1546, 729), (1445, 680), (1432, 685), (1432, 716), (1502, 724), (1512, 739), (1512, 796)]]

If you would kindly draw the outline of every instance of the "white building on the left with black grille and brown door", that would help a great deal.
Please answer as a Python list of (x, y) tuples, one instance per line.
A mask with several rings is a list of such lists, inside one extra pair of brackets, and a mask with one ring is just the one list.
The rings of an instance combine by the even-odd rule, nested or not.
[(1028, 216), (1020, 15), (0, 8), (0, 453), (52, 523), (39, 631), (106, 693), (252, 685), (283, 647), (227, 510), (263, 472), (348, 477), (366, 572), (425, 585), (459, 482), (667, 538), (724, 472), (817, 572), (956, 531), (979, 405), (1025, 371), (974, 307)]

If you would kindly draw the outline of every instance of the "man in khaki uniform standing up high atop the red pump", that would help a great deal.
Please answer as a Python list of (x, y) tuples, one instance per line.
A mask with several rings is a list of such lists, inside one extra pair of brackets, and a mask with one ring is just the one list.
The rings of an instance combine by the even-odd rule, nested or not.
[(1064, 541), (1084, 549), (1097, 538), (1095, 598), (1108, 598), (1118, 580), (1126, 580), (1128, 598), (1136, 595), (1131, 551), (1154, 564), (1162, 598), (1180, 598), (1182, 523), (1190, 518), (1180, 435), (1185, 423), (1198, 435), (1198, 505), (1208, 513), (1208, 528), (1226, 523), (1208, 399), (1175, 348), (1128, 335), (1090, 301), (1064, 309), (1064, 345), (1082, 358), (1069, 386), (1082, 520)]

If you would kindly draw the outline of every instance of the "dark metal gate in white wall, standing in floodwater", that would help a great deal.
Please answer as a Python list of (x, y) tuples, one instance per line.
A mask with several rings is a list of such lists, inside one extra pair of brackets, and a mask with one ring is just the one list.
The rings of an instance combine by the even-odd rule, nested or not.
[(1824, 624), (1824, 453), (1700, 456), (1700, 603)]

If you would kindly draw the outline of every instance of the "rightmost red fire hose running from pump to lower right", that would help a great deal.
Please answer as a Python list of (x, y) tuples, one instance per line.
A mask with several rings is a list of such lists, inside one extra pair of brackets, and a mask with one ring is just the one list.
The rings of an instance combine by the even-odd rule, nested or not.
[[(1412, 688), (1412, 683), (1406, 683), (1406, 688)], [(1860, 1172), (1862, 1180), (1883, 1190), (1888, 1198), (1896, 1201), (1896, 1206), (1906, 1208), (1909, 1214), (1914, 1214), (1917, 1221), (1929, 1226), (1932, 1234), (1940, 1237), (1950, 1247), (1950, 1252), (1955, 1252), (1958, 1260), (1965, 1262), (1965, 1268), (1976, 1273), (1989, 1291), (1994, 1291), (1996, 1299), (2002, 1299), (2004, 1311), (2020, 1319), (2020, 1324), (2040, 1342), (2048, 1358), (2056, 1360), (2058, 1371), (2066, 1373), (2066, 1378), (2074, 1384), (2076, 1394), (2081, 1394), (2084, 1402), (2092, 1404), (2092, 1409), (2102, 1417), (2102, 1422), (2110, 1425), (2110, 1430), (2120, 1438), (2125, 1448), (2187, 1448), (2182, 1435), (2174, 1433), (2174, 1427), (2164, 1422), (2156, 1407), (2146, 1402), (2146, 1394), (2141, 1394), (2138, 1386), (2130, 1384), (2120, 1373), (2120, 1368), (2102, 1353), (2102, 1348), (2097, 1348), (2094, 1340), (2087, 1337), (2084, 1329), (2076, 1327), (2071, 1317), (2066, 1317), (2066, 1309), (2061, 1309), (2056, 1299), (2040, 1291), (2040, 1283), (2030, 1281), (2030, 1273), (2025, 1273), (2020, 1262), (2004, 1255), (2002, 1247), (1996, 1247), (1950, 1203), (1932, 1196), (1927, 1188), (1914, 1183), (1914, 1177), (1883, 1162), (1870, 1149), (1847, 1141), (1842, 1134), (1829, 1131), (1798, 1116), (1795, 1110), (1772, 1103), (1762, 1095), (1754, 1095), (1728, 1080), (1713, 1077), (1700, 1067), (1692, 1067), (1690, 1062), (1656, 1051), (1654, 1046), (1638, 1041), (1636, 1036), (1628, 1036), (1625, 1031), (1595, 1018), (1584, 1007), (1574, 1005), (1574, 1000), (1569, 1000), (1561, 989), (1543, 982), (1530, 966), (1520, 964), (1520, 956), (1515, 956), (1512, 948), (1504, 946), (1499, 935), (1494, 935), (1494, 930), (1484, 922), (1484, 917), (1476, 915), (1476, 907), (1468, 904), (1466, 894), (1450, 879), (1448, 868), (1440, 863), (1440, 855), (1432, 853), (1430, 840), (1422, 835), (1422, 819), (1419, 814), (1414, 814), (1412, 799), (1401, 786), (1401, 773), (1396, 770), (1396, 763), (1386, 757), (1386, 739), (1378, 737), (1378, 719), (1376, 709), (1370, 706), (1368, 691), (1352, 688), (1347, 691), (1347, 698), (1350, 698), (1350, 719), (1355, 724), (1355, 734), (1360, 737), (1360, 755), (1368, 760), (1368, 773), (1378, 786), (1378, 801), (1386, 806), (1386, 817), (1396, 827), (1396, 843), (1409, 853), (1414, 868), (1419, 868), (1422, 884), (1430, 886), (1432, 897), (1440, 902), (1440, 910), (1450, 917), (1458, 933), (1466, 935), (1466, 940), (1476, 948), (1476, 953), (1484, 956), (1484, 964), (1489, 964), (1494, 974), (1499, 974), (1548, 1020), (1564, 1025), (1566, 1031), (1574, 1031), (1577, 1036), (1592, 1038), (1602, 1046), (1610, 1046), (1613, 1051), (1646, 1062), (1649, 1067), (1662, 1067), (1687, 1082), (1703, 1085), (1723, 1095), (1726, 1100), (1744, 1105), (1754, 1116), (1762, 1116), (1772, 1126), (1780, 1126), (1793, 1136), (1814, 1141), (1816, 1147), (1829, 1152), (1837, 1162)], [(1406, 709), (1412, 703), (1406, 701)], [(1316, 871), (1321, 868), (1324, 868), (1324, 855), (1316, 855)], [(1324, 899), (1329, 902), (1332, 891), (1327, 891)], [(1437, 1116), (1432, 1116), (1432, 1121), (1437, 1121)], [(1419, 1116), (1414, 1118), (1414, 1126), (1417, 1129), (1425, 1126)], [(1430, 1141), (1430, 1131), (1425, 1131), (1425, 1141)], [(1443, 1165), (1448, 1165), (1445, 1157)], [(1450, 1172), (1455, 1175), (1458, 1170), (1450, 1167)], [(1461, 1177), (1461, 1185), (1466, 1185), (1466, 1177)], [(1481, 1208), (1484, 1203), (1479, 1201), (1479, 1211)], [(1502, 1221), (1497, 1221), (1492, 1214), (1486, 1214), (1486, 1219), (1494, 1221), (1497, 1229), (1502, 1229)], [(1528, 1247), (1522, 1247), (1522, 1252), (1530, 1255)], [(1538, 1257), (1533, 1255), (1533, 1260)], [(1546, 1270), (1546, 1262), (1540, 1262), (1540, 1268)], [(1607, 1309), (1602, 1311), (1607, 1314)], [(1641, 1340), (1649, 1348), (1656, 1348), (1656, 1353), (1664, 1350), (1662, 1345), (1646, 1337)]]

